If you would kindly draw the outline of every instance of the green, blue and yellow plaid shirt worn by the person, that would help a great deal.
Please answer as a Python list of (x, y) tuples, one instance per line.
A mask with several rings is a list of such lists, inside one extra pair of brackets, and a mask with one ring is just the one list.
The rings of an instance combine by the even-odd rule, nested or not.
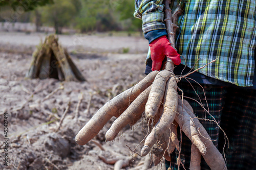
[[(182, 64), (197, 69), (218, 58), (199, 72), (238, 86), (252, 86), (255, 9), (255, 0), (186, 1), (176, 41), (178, 53), (184, 56)], [(144, 33), (165, 28), (162, 10), (162, 1), (135, 1), (134, 16), (142, 19)]]

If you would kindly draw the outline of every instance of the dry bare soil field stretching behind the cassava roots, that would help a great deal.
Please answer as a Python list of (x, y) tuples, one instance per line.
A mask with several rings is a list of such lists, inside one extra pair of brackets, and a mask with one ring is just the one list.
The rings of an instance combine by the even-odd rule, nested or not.
[[(143, 140), (145, 123), (137, 123), (132, 130), (130, 126), (125, 127), (112, 142), (105, 142), (104, 134), (114, 117), (86, 145), (76, 144), (74, 137), (101, 106), (145, 77), (147, 41), (143, 37), (80, 36), (76, 39), (72, 35), (59, 36), (59, 42), (68, 48), (87, 81), (30, 80), (25, 76), (40, 36), (44, 39), (46, 35), (0, 33), (0, 153), (1, 156), (8, 153), (8, 166), (1, 159), (0, 169), (114, 168), (100, 156), (128, 160), (129, 165), (123, 169), (143, 169), (145, 157), (137, 154), (132, 157), (132, 151), (125, 144), (134, 149)], [(82, 43), (74, 43), (77, 40)], [(125, 48), (129, 51), (123, 51)], [(79, 117), (75, 119), (81, 95)], [(67, 116), (56, 131), (69, 103)], [(6, 138), (5, 112), (8, 115), (7, 152), (2, 142)], [(136, 151), (139, 152), (141, 147)], [(152, 165), (151, 169), (161, 168), (165, 169), (161, 165)]]

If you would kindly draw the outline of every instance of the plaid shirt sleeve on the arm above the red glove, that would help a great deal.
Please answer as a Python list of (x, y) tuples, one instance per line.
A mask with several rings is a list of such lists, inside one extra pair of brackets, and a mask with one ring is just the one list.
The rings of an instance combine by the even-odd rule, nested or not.
[(134, 16), (142, 19), (144, 34), (152, 30), (165, 29), (162, 2), (163, 0), (135, 0)]

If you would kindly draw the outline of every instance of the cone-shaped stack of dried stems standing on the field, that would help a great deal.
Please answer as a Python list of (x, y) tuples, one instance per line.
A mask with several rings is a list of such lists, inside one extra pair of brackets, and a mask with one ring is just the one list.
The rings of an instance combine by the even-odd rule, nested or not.
[(58, 43), (56, 35), (45, 38), (33, 53), (33, 61), (26, 75), (30, 79), (55, 78), (60, 81), (85, 81), (71, 60), (67, 50)]

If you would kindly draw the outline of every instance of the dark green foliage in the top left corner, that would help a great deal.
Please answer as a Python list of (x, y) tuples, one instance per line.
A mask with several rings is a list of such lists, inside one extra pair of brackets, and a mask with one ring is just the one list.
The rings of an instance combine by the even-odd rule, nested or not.
[(0, 0), (0, 6), (9, 6), (13, 10), (22, 7), (25, 11), (35, 9), (37, 6), (45, 6), (46, 4), (52, 4), (53, 0)]

